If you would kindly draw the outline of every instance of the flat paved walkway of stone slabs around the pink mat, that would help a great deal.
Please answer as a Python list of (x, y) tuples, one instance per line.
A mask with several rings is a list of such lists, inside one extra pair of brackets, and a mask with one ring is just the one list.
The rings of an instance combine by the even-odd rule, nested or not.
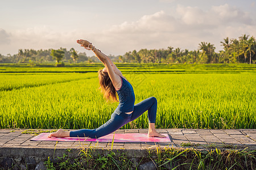
[[(171, 142), (54, 142), (30, 141), (34, 134), (23, 134), (26, 129), (0, 129), (0, 148), (102, 148), (133, 149), (147, 148), (250, 148), (256, 150), (256, 129), (157, 129), (168, 133)], [(147, 129), (119, 129), (115, 133), (147, 133)]]

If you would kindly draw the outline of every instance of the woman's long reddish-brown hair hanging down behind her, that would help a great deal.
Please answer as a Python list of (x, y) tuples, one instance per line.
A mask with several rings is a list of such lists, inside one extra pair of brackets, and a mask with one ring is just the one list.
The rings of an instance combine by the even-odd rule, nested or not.
[(117, 92), (115, 91), (108, 72), (98, 70), (98, 79), (100, 80), (100, 89), (104, 97), (110, 101), (118, 101)]

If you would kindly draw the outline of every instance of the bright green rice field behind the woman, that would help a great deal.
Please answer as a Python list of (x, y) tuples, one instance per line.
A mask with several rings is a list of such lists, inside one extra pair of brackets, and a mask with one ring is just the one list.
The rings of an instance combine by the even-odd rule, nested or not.
[[(116, 64), (135, 104), (155, 96), (156, 128), (256, 129), (256, 66)], [(103, 65), (0, 65), (0, 128), (94, 129), (118, 103), (98, 89)], [(148, 128), (147, 112), (122, 129)]]

